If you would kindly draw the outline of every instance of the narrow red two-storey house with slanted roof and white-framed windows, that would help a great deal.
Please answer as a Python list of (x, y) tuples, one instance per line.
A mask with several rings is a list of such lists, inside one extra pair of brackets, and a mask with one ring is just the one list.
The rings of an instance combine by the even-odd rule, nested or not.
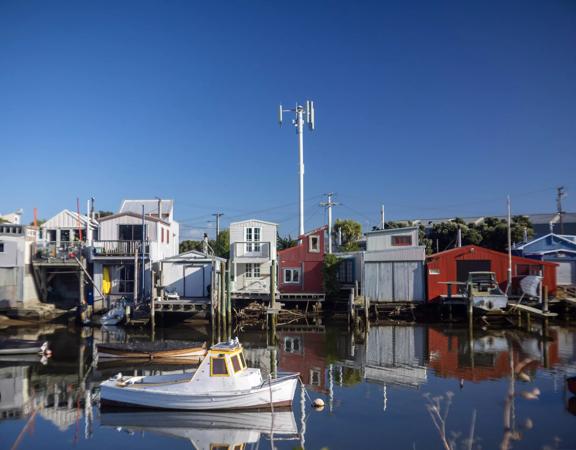
[(323, 226), (299, 237), (299, 244), (278, 252), (278, 290), (282, 294), (324, 293)]

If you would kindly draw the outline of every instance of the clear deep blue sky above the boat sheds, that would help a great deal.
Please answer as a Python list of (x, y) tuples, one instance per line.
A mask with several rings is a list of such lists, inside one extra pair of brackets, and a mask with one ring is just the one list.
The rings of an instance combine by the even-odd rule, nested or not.
[(0, 212), (176, 201), (182, 235), (576, 210), (576, 2), (0, 0)]

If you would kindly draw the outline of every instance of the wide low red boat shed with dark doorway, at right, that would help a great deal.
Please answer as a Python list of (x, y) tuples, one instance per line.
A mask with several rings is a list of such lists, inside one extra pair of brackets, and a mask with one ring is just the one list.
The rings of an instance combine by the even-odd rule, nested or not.
[[(428, 301), (448, 295), (450, 281), (466, 281), (469, 272), (494, 272), (502, 290), (508, 282), (508, 254), (466, 245), (426, 258), (428, 276)], [(519, 281), (526, 275), (544, 276), (543, 286), (549, 294), (556, 292), (556, 264), (546, 261), (512, 256), (512, 293), (520, 295)], [(453, 293), (454, 288), (453, 288)]]

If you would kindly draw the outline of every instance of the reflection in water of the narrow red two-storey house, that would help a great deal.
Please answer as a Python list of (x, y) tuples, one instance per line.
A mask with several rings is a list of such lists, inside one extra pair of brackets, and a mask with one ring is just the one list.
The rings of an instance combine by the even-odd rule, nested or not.
[(278, 332), (279, 368), (299, 372), (307, 388), (326, 393), (326, 334), (323, 332)]

